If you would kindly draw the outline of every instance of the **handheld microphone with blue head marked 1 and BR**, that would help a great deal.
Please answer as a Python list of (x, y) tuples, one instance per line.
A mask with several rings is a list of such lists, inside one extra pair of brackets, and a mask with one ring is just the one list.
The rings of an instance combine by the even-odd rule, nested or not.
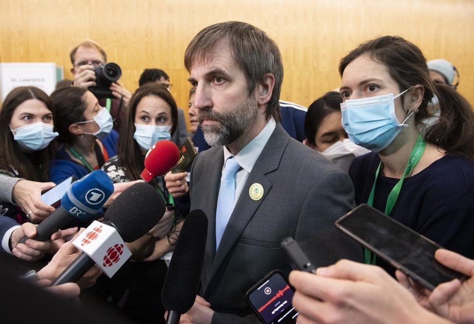
[[(114, 192), (114, 184), (102, 170), (95, 170), (73, 182), (61, 198), (61, 206), (36, 228), (37, 241), (47, 241), (51, 235), (74, 218), (99, 216), (102, 206)], [(19, 243), (25, 243), (25, 236)]]

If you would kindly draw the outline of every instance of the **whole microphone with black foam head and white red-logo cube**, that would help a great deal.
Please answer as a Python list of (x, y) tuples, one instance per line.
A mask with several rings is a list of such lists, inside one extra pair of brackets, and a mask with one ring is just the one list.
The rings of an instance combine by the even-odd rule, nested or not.
[(123, 264), (118, 261), (124, 262), (131, 255), (117, 236), (125, 242), (139, 239), (158, 223), (165, 208), (158, 192), (147, 183), (137, 183), (123, 191), (110, 205), (103, 223), (94, 222), (73, 242), (83, 252), (52, 286), (77, 282), (96, 263), (111, 277)]

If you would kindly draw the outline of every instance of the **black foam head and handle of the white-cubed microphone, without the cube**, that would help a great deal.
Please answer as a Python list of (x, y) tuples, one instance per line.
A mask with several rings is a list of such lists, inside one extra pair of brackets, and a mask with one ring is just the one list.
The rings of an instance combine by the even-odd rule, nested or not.
[[(114, 227), (123, 241), (133, 242), (158, 223), (165, 209), (163, 199), (153, 186), (136, 183), (118, 195), (105, 213), (103, 223)], [(82, 252), (51, 286), (77, 282), (94, 264), (94, 260)]]

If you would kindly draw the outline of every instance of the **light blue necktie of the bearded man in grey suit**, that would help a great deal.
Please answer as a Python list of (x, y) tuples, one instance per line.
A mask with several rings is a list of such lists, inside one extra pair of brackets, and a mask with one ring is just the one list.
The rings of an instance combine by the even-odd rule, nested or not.
[(238, 169), (240, 169), (240, 166), (234, 156), (231, 156), (227, 159), (224, 171), (222, 171), (221, 190), (217, 198), (216, 210), (216, 251), (234, 209), (236, 173)]

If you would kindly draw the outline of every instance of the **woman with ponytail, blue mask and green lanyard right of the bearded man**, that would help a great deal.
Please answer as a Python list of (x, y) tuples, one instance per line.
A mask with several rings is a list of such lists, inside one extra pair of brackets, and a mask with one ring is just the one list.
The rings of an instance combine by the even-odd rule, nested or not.
[[(367, 203), (441, 246), (474, 257), (474, 112), (454, 89), (435, 84), (421, 50), (383, 36), (339, 65), (343, 127), (372, 152), (349, 174), (356, 204)], [(428, 127), (434, 96), (439, 120)], [(420, 129), (426, 130), (424, 135)], [(365, 251), (366, 263), (377, 263)]]

